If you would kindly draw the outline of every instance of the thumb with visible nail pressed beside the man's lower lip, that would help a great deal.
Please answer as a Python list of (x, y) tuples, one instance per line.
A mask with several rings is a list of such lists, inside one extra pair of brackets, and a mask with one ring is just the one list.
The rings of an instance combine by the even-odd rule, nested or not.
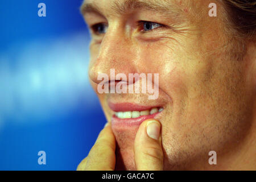
[(134, 160), (138, 171), (163, 170), (161, 125), (156, 119), (141, 123), (134, 141)]

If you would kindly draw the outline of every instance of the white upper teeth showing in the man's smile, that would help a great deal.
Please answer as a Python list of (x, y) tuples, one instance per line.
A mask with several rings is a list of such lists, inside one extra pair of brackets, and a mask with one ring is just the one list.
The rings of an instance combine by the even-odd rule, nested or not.
[(124, 119), (124, 118), (138, 118), (141, 115), (155, 114), (155, 113), (158, 113), (162, 110), (163, 110), (163, 107), (160, 107), (159, 109), (157, 107), (153, 107), (151, 110), (115, 112), (115, 115), (118, 118), (121, 118), (121, 119)]

